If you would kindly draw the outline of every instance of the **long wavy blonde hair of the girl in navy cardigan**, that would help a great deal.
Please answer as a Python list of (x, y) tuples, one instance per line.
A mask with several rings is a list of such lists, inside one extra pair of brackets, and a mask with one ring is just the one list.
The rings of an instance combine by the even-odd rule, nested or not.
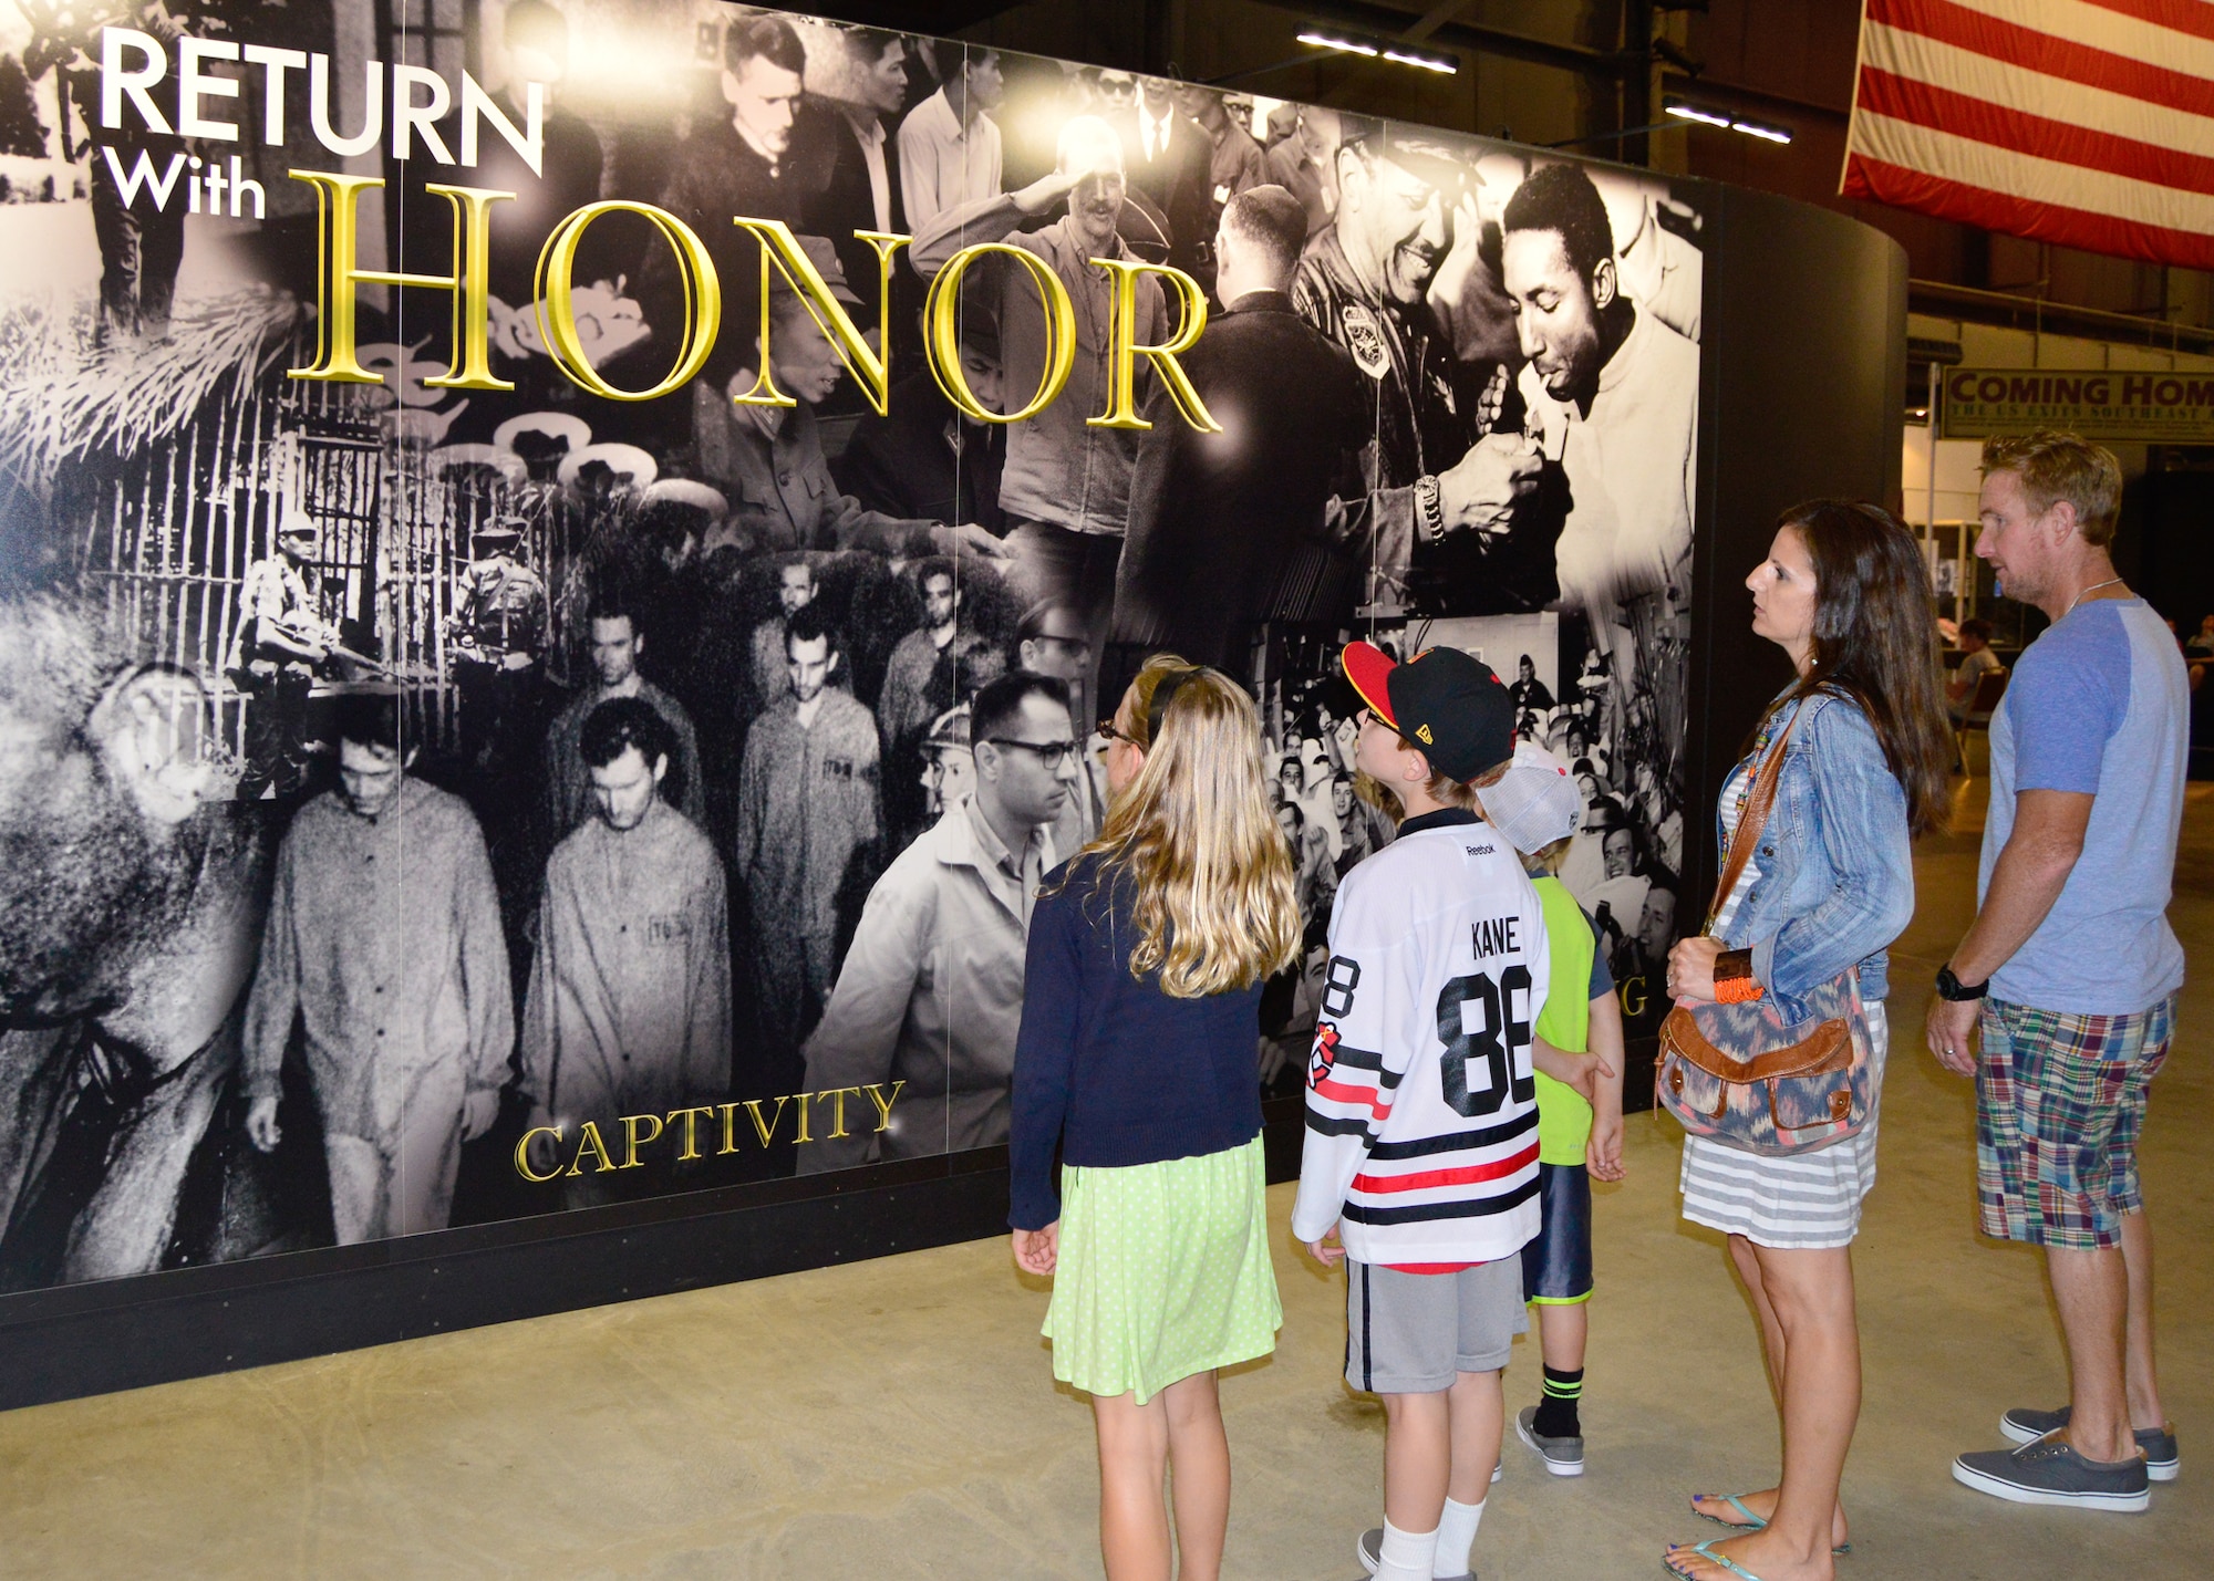
[[(1173, 680), (1151, 740), (1156, 691)], [(1291, 850), (1269, 810), (1253, 700), (1213, 669), (1158, 653), (1131, 682), (1145, 766), (1085, 846), (1103, 877), (1138, 890), (1131, 976), (1160, 970), (1173, 999), (1204, 999), (1300, 957)]]

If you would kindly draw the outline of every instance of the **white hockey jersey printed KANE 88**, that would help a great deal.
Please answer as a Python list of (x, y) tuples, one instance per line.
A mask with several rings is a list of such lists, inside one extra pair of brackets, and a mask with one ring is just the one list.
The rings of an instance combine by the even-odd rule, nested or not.
[(1408, 819), (1353, 868), (1331, 912), (1293, 1233), (1337, 1224), (1346, 1256), (1388, 1267), (1521, 1251), (1539, 1227), (1545, 988), (1543, 908), (1490, 824)]

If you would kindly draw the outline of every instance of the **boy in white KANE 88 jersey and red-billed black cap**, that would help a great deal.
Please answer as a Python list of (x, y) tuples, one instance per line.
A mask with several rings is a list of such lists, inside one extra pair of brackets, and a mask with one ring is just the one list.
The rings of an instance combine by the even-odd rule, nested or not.
[[(1355, 642), (1355, 764), (1406, 813), (1331, 914), (1293, 1233), (1346, 1260), (1346, 1382), (1384, 1395), (1382, 1581), (1463, 1577), (1499, 1461), (1499, 1368), (1528, 1329), (1539, 1231), (1537, 1014), (1545, 917), (1470, 782), (1506, 768), (1514, 704), (1483, 664)], [(1328, 1244), (1331, 1238), (1342, 1244)]]

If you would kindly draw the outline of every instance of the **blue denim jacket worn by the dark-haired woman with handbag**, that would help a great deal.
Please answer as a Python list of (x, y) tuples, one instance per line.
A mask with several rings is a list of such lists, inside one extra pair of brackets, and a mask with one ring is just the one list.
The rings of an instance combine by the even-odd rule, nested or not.
[[(1787, 744), (1776, 808), (1760, 830), (1753, 879), (1725, 948), (1753, 952), (1753, 976), (1787, 1023), (1807, 1010), (1798, 994), (1860, 963), (1860, 994), (1886, 992), (1884, 952), (1915, 912), (1915, 868), (1906, 793), (1884, 762), (1860, 704), (1815, 693), (1787, 704), (1804, 713)], [(1722, 841), (1720, 819), (1716, 839)], [(1727, 852), (1727, 841), (1716, 846)]]

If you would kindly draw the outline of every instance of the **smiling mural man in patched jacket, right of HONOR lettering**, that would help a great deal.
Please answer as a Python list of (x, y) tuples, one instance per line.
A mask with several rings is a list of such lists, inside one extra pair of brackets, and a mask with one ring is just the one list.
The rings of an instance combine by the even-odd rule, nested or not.
[[(1463, 365), (1430, 306), (1470, 168), (1450, 146), (1390, 124), (1346, 120), (1337, 219), (1306, 248), (1293, 303), (1375, 381), (1366, 498), (1346, 500), (1346, 536), (1370, 556), (1375, 613), (1543, 609), (1556, 596), (1552, 542), (1514, 531), (1537, 487), (1537, 447), (1519, 434), (1501, 365)], [(1351, 611), (1333, 611), (1351, 613)]]

